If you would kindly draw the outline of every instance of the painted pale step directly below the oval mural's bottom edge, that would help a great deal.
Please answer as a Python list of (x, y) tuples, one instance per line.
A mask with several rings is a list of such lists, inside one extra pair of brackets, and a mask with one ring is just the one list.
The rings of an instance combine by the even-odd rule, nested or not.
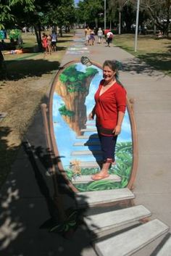
[(75, 194), (78, 207), (96, 207), (102, 204), (134, 198), (135, 195), (128, 188), (79, 192)]

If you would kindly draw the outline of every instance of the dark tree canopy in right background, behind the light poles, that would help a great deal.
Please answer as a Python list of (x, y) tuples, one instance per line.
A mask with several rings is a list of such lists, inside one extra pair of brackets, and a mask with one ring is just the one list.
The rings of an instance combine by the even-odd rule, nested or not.
[[(107, 2), (107, 27), (109, 22), (117, 24), (119, 30), (123, 22), (126, 28), (135, 23), (137, 0), (108, 0)], [(76, 11), (80, 23), (96, 26), (98, 20), (104, 24), (104, 0), (83, 0), (78, 3)], [(168, 35), (171, 17), (171, 0), (143, 0), (140, 1), (139, 24), (147, 20), (163, 30)], [(110, 24), (111, 25), (111, 24)]]

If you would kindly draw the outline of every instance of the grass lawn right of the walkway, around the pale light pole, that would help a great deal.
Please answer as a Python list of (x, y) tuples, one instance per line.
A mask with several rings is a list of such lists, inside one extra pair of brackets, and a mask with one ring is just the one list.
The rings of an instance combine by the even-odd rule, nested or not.
[(171, 75), (171, 39), (156, 39), (154, 36), (138, 36), (137, 51), (134, 51), (135, 35), (122, 34), (114, 36), (114, 44), (130, 52), (135, 57)]

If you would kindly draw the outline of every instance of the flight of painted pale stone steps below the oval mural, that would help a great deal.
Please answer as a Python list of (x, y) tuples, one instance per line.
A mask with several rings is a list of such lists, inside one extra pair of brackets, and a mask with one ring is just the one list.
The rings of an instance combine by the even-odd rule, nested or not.
[[(76, 194), (78, 208), (88, 209), (83, 219), (97, 255), (133, 255), (142, 248), (146, 249), (146, 246), (157, 241), (159, 237), (162, 239), (169, 231), (169, 227), (161, 220), (149, 220), (151, 212), (143, 205), (133, 205), (108, 212), (99, 210), (105, 205), (133, 202), (134, 198), (135, 195), (128, 188)], [(92, 207), (96, 207), (95, 212), (98, 213), (92, 214)], [(171, 237), (155, 255), (171, 255)]]

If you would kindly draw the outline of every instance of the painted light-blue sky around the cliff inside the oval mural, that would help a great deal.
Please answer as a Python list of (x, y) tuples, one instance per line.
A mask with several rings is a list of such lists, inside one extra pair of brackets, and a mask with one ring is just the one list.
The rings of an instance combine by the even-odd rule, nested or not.
[[(94, 94), (99, 86), (99, 82), (102, 78), (102, 70), (99, 69), (96, 66), (91, 66), (96, 69), (98, 69), (99, 73), (97, 73), (93, 80), (91, 80), (90, 88), (88, 96), (86, 96), (86, 114), (87, 116), (91, 112), (93, 106), (94, 106)], [(82, 71), (83, 73), (86, 72), (86, 66), (81, 65), (80, 63), (76, 65), (77, 70)], [(93, 155), (83, 155), (83, 156), (72, 156), (71, 152), (75, 151), (85, 151), (88, 149), (91, 150), (98, 150), (99, 146), (74, 146), (76, 142), (84, 142), (88, 141), (88, 139), (78, 139), (77, 134), (75, 131), (72, 131), (72, 129), (69, 127), (69, 125), (64, 121), (62, 118), (62, 115), (59, 113), (59, 107), (62, 106), (64, 102), (62, 101), (61, 96), (59, 96), (57, 93), (54, 92), (54, 98), (53, 98), (53, 123), (54, 123), (54, 135), (55, 139), (57, 141), (57, 148), (59, 150), (59, 154), (62, 160), (62, 165), (65, 168), (69, 167), (71, 160), (80, 160), (80, 161), (96, 161)], [(92, 121), (87, 121), (88, 123), (92, 123)], [(93, 122), (95, 123), (95, 122)], [(94, 126), (95, 127), (95, 126)], [(87, 128), (92, 128), (92, 125), (87, 126)], [(94, 134), (96, 132), (85, 132), (84, 135), (91, 136), (91, 134)], [(131, 136), (131, 128), (130, 128), (130, 119), (128, 112), (125, 113), (124, 121), (122, 124), (122, 133), (120, 133), (120, 136), (117, 139), (117, 142), (121, 141), (132, 141)]]

